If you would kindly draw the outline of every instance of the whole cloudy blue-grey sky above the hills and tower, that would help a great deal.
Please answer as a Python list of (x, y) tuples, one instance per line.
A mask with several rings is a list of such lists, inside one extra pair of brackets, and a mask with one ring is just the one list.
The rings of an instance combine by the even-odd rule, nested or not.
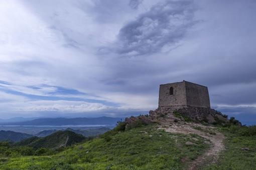
[(0, 118), (124, 117), (208, 86), (256, 123), (255, 0), (0, 0)]

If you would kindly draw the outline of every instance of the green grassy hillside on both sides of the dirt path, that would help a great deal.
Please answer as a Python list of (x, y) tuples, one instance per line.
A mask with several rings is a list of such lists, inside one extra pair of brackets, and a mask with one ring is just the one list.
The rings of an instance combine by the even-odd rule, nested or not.
[[(185, 169), (211, 146), (196, 134), (173, 134), (157, 124), (127, 131), (120, 127), (55, 154), (0, 154), (0, 169)], [(218, 130), (225, 134), (226, 149), (216, 163), (202, 169), (255, 169), (256, 126)], [(195, 144), (186, 144), (192, 140)]]

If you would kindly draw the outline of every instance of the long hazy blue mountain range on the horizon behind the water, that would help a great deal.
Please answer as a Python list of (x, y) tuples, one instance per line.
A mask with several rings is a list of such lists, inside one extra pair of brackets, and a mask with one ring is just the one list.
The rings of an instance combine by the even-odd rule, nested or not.
[(120, 117), (76, 117), (76, 118), (37, 118), (21, 122), (0, 122), (2, 125), (79, 125), (79, 124), (116, 124)]

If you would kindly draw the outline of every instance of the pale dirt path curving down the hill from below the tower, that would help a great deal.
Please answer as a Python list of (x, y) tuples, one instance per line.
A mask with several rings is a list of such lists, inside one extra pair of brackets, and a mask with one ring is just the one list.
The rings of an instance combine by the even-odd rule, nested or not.
[[(168, 127), (169, 126), (169, 127)], [(204, 126), (202, 124), (197, 123), (186, 123), (186, 124), (180, 124), (180, 123), (173, 123), (172, 125), (164, 125), (161, 126), (161, 129), (165, 129), (168, 132), (171, 133), (195, 133), (198, 134), (206, 139), (209, 139), (212, 143), (211, 147), (206, 150), (202, 155), (197, 157), (195, 160), (191, 161), (188, 165), (189, 170), (198, 169), (202, 165), (206, 163), (207, 160), (210, 160), (210, 163), (215, 163), (218, 160), (219, 152), (224, 149), (224, 135), (216, 130), (214, 130), (214, 127), (208, 127)], [(202, 130), (197, 130), (194, 127), (200, 127)], [(211, 129), (214, 130), (216, 134), (210, 135), (208, 132), (203, 131), (204, 129)]]

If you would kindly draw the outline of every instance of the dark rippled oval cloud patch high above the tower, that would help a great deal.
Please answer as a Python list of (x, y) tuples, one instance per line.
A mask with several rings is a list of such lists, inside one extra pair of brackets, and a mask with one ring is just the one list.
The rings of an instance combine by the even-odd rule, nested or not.
[(116, 52), (134, 56), (156, 53), (164, 46), (176, 46), (196, 23), (195, 11), (195, 4), (190, 0), (168, 0), (152, 6), (120, 29)]

